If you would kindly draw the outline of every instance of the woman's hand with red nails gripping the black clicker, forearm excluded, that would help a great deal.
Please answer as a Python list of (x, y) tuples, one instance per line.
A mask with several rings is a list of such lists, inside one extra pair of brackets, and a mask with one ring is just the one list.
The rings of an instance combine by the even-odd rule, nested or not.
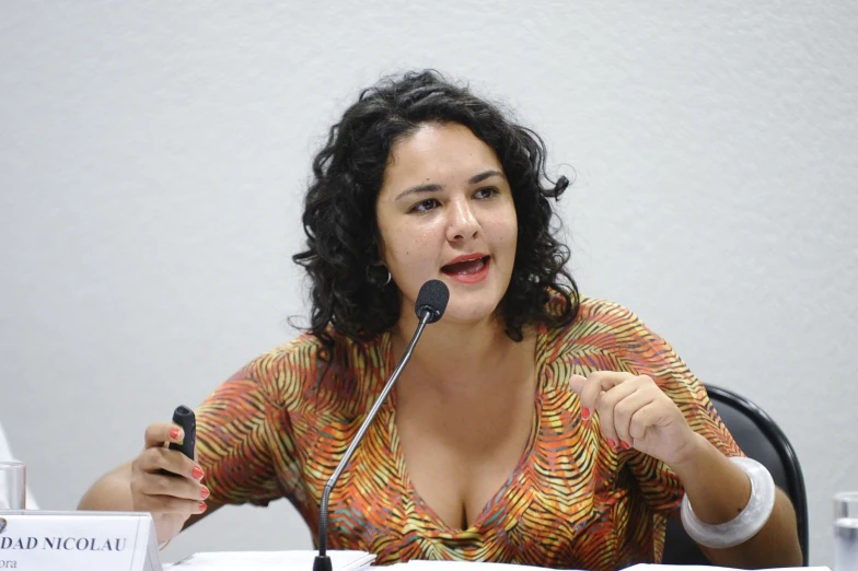
[(209, 490), (200, 483), (202, 469), (181, 452), (166, 447), (184, 436), (173, 423), (151, 424), (146, 429), (143, 452), (131, 463), (134, 510), (151, 512), (159, 543), (178, 535), (188, 517), (206, 511)]

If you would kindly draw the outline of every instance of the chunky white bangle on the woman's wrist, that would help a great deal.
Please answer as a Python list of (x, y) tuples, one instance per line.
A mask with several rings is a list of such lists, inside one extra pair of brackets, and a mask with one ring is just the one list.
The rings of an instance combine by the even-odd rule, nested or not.
[(724, 549), (743, 544), (763, 528), (775, 508), (775, 480), (765, 466), (755, 459), (733, 456), (730, 462), (742, 468), (751, 480), (751, 499), (742, 512), (718, 525), (702, 522), (694, 515), (688, 496), (682, 498), (682, 525), (698, 544)]

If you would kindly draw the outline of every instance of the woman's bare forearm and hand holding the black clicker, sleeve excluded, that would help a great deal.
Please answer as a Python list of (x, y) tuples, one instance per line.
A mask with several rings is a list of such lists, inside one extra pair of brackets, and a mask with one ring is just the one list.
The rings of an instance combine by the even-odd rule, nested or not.
[(166, 447), (183, 438), (175, 424), (151, 424), (143, 452), (96, 481), (78, 509), (150, 512), (159, 543), (175, 537), (190, 516), (197, 521), (213, 512), (217, 508), (208, 509), (205, 501), (209, 490), (201, 483), (205, 475), (199, 464)]

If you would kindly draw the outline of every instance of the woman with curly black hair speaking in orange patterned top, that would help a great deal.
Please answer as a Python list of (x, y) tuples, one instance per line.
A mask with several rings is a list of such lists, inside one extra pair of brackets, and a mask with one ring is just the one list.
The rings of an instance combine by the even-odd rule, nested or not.
[(447, 313), (333, 493), (333, 548), (379, 564), (616, 569), (661, 558), (684, 494), (699, 540), (740, 532), (707, 548), (714, 563), (800, 564), (788, 499), (752, 493), (671, 347), (579, 295), (549, 229), (568, 180), (544, 188), (544, 161), (535, 133), (434, 72), (364, 91), (313, 163), (294, 256), (312, 280), (309, 331), (199, 407), (198, 462), (164, 447), (177, 429), (152, 424), (81, 508), (150, 511), (163, 541), (225, 503), (286, 497), (315, 535), (323, 486), (416, 327), (417, 292), (440, 279)]

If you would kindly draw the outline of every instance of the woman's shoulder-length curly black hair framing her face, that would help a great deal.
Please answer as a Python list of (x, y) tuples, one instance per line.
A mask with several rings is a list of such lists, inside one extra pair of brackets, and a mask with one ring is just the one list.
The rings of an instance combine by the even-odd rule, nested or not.
[[(394, 142), (427, 123), (471, 129), (495, 151), (512, 189), (518, 248), (497, 308), (507, 335), (520, 341), (524, 326), (563, 326), (578, 314), (578, 287), (566, 269), (569, 249), (553, 235), (548, 201), (558, 199), (569, 180), (548, 178), (543, 140), (437, 71), (407, 72), (362, 91), (313, 160), (302, 219), (306, 249), (292, 259), (311, 279), (309, 331), (326, 350), (335, 346), (332, 329), (369, 340), (399, 318), (401, 295), (395, 283), (385, 283), (387, 272), (379, 260), (375, 201)], [(546, 188), (543, 180), (552, 185)], [(549, 295), (566, 303), (549, 306)]]

